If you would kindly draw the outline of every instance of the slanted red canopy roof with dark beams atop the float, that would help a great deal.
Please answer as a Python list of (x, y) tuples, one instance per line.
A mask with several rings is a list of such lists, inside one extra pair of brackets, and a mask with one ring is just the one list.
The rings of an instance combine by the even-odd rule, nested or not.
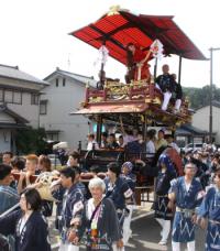
[(69, 33), (96, 48), (106, 42), (110, 56), (127, 63), (125, 46), (134, 43), (148, 50), (158, 39), (165, 54), (182, 55), (189, 59), (207, 59), (188, 36), (176, 25), (169, 15), (135, 15), (119, 10), (105, 14), (95, 23)]

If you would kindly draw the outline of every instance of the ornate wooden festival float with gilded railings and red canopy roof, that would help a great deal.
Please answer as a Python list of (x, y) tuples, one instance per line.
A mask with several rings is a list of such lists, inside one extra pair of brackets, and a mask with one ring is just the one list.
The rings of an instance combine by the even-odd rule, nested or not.
[[(144, 139), (148, 127), (165, 127), (175, 131), (177, 127), (191, 120), (191, 111), (187, 98), (182, 100), (179, 112), (174, 112), (174, 101), (169, 101), (167, 110), (162, 109), (163, 92), (156, 87), (157, 62), (162, 57), (177, 55), (178, 84), (182, 79), (183, 58), (205, 61), (206, 57), (189, 40), (189, 37), (173, 21), (172, 15), (146, 15), (134, 14), (129, 10), (120, 9), (119, 6), (111, 7), (110, 11), (77, 31), (69, 34), (99, 50), (101, 67), (97, 88), (89, 85), (86, 88), (85, 100), (80, 108), (72, 114), (82, 114), (97, 123), (97, 141), (101, 140), (101, 130), (108, 122), (119, 123), (124, 127), (133, 126), (143, 132)], [(125, 83), (119, 79), (106, 77), (105, 65), (107, 57), (129, 68), (128, 45), (139, 46), (139, 56), (142, 65), (136, 64), (133, 77), (127, 74)], [(153, 62), (153, 74), (143, 74), (147, 62)], [(128, 70), (129, 72), (129, 70)], [(129, 79), (128, 79), (129, 78)], [(87, 166), (99, 164), (102, 167), (110, 161), (123, 162), (131, 160), (131, 154), (125, 150), (94, 150), (90, 154), (81, 150), (84, 163)], [(123, 153), (123, 155), (122, 155)], [(145, 159), (145, 153), (141, 159)], [(177, 170), (182, 168), (178, 154), (170, 153), (176, 162)], [(133, 159), (132, 159), (133, 160)], [(178, 172), (180, 173), (180, 172)], [(139, 178), (142, 186), (143, 178)]]

